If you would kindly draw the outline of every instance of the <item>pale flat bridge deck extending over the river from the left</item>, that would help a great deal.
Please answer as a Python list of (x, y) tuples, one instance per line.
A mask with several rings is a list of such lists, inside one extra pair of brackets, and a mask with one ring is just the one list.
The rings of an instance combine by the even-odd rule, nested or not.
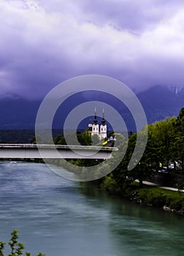
[(0, 144), (1, 158), (109, 159), (117, 148), (42, 144)]

